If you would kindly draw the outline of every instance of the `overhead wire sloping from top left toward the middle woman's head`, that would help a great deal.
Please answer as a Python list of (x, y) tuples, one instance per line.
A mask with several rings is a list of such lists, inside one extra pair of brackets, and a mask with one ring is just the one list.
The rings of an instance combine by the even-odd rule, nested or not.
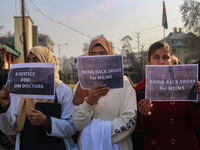
[(54, 20), (54, 19), (48, 17), (45, 13), (43, 13), (43, 12), (36, 6), (36, 4), (35, 4), (32, 0), (30, 0), (30, 2), (31, 2), (31, 3), (35, 6), (35, 8), (36, 8), (44, 17), (46, 17), (47, 19), (49, 19), (49, 20), (51, 20), (51, 21), (53, 21), (53, 22), (56, 22), (56, 23), (58, 23), (58, 24), (60, 24), (60, 25), (63, 25), (63, 26), (65, 26), (65, 27), (68, 27), (69, 29), (71, 29), (71, 30), (73, 30), (73, 31), (75, 31), (75, 32), (77, 32), (77, 33), (79, 33), (79, 34), (82, 34), (82, 35), (84, 35), (84, 36), (87, 36), (87, 37), (89, 37), (89, 38), (92, 38), (91, 36), (89, 36), (89, 35), (87, 35), (87, 34), (81, 32), (81, 31), (78, 31), (78, 30), (76, 30), (76, 29), (74, 29), (74, 28), (68, 26), (67, 24), (64, 24), (64, 23), (62, 23), (62, 22), (56, 21), (56, 20)]

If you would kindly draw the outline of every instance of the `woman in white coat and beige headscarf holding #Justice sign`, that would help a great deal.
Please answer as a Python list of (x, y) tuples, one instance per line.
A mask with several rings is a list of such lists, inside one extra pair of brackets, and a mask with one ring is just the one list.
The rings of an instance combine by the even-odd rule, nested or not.
[[(75, 134), (71, 116), (73, 94), (59, 81), (56, 57), (43, 46), (30, 49), (27, 57), (31, 63), (55, 63), (55, 99), (10, 98), (9, 89), (4, 86), (0, 91), (0, 129), (9, 135), (17, 134), (16, 150), (70, 150), (76, 147), (71, 138)], [(34, 109), (40, 102), (45, 103), (47, 111), (49, 105), (46, 104), (53, 103), (49, 111), (60, 111), (61, 114), (48, 116)]]

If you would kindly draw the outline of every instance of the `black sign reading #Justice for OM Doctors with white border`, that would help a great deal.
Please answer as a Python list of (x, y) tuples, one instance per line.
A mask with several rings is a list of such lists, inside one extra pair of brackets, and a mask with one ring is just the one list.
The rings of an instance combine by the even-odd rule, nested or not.
[(11, 95), (24, 98), (54, 99), (55, 64), (13, 64), (8, 75), (7, 86)]

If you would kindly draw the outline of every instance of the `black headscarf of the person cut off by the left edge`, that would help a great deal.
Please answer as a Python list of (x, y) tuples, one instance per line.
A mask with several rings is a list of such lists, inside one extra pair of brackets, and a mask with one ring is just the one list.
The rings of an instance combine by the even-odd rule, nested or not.
[(8, 78), (8, 71), (3, 69), (4, 57), (0, 52), (0, 90), (6, 84)]

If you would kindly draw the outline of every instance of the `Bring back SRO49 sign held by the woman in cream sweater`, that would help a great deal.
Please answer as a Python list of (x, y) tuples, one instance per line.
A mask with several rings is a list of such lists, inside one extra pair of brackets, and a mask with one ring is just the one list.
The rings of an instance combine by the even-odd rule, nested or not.
[(123, 88), (122, 55), (77, 57), (78, 76), (83, 89), (106, 84), (110, 89)]

